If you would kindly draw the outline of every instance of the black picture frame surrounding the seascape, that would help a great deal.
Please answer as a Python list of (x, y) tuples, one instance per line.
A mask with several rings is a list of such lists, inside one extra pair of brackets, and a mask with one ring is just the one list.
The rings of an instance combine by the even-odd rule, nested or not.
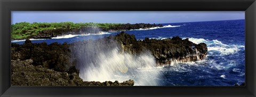
[[(255, 0), (0, 0), (0, 96), (256, 95)], [(11, 86), (11, 11), (245, 11), (246, 86)]]

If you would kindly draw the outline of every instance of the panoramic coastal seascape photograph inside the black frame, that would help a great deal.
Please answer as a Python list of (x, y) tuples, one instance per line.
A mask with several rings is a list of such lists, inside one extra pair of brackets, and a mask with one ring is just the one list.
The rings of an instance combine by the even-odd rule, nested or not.
[(244, 11), (12, 11), (12, 86), (245, 86)]

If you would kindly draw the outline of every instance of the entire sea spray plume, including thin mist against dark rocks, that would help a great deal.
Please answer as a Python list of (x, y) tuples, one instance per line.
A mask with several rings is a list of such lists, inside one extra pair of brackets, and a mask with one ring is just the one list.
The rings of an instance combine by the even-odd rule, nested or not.
[(134, 80), (134, 85), (161, 85), (162, 74), (150, 52), (121, 53), (114, 39), (101, 38), (74, 45), (79, 77), (84, 81)]

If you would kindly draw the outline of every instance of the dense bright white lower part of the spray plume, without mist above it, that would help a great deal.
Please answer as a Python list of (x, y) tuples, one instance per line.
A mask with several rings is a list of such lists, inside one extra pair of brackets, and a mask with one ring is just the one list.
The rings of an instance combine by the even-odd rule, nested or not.
[[(90, 52), (87, 52), (90, 53)], [(93, 53), (93, 52), (92, 52)], [(123, 82), (134, 80), (134, 85), (161, 85), (158, 78), (160, 72), (157, 70), (154, 56), (145, 53), (136, 58), (129, 53), (119, 53), (118, 48), (108, 52), (97, 52), (97, 63), (90, 63), (87, 66), (79, 66), (79, 77), (84, 81)], [(86, 54), (86, 53), (85, 53)]]

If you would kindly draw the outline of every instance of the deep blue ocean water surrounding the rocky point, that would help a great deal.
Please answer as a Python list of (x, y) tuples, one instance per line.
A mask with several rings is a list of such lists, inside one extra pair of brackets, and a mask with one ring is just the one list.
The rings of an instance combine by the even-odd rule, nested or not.
[[(159, 69), (157, 78), (164, 86), (233, 86), (245, 82), (245, 20), (163, 23), (162, 28), (126, 31), (139, 39), (164, 39), (179, 36), (196, 44), (206, 43), (205, 59), (192, 63), (179, 63)], [(90, 35), (68, 35), (55, 39), (32, 39), (33, 43), (73, 43), (88, 39), (116, 35), (105, 32)], [(25, 41), (12, 41), (23, 44)]]

